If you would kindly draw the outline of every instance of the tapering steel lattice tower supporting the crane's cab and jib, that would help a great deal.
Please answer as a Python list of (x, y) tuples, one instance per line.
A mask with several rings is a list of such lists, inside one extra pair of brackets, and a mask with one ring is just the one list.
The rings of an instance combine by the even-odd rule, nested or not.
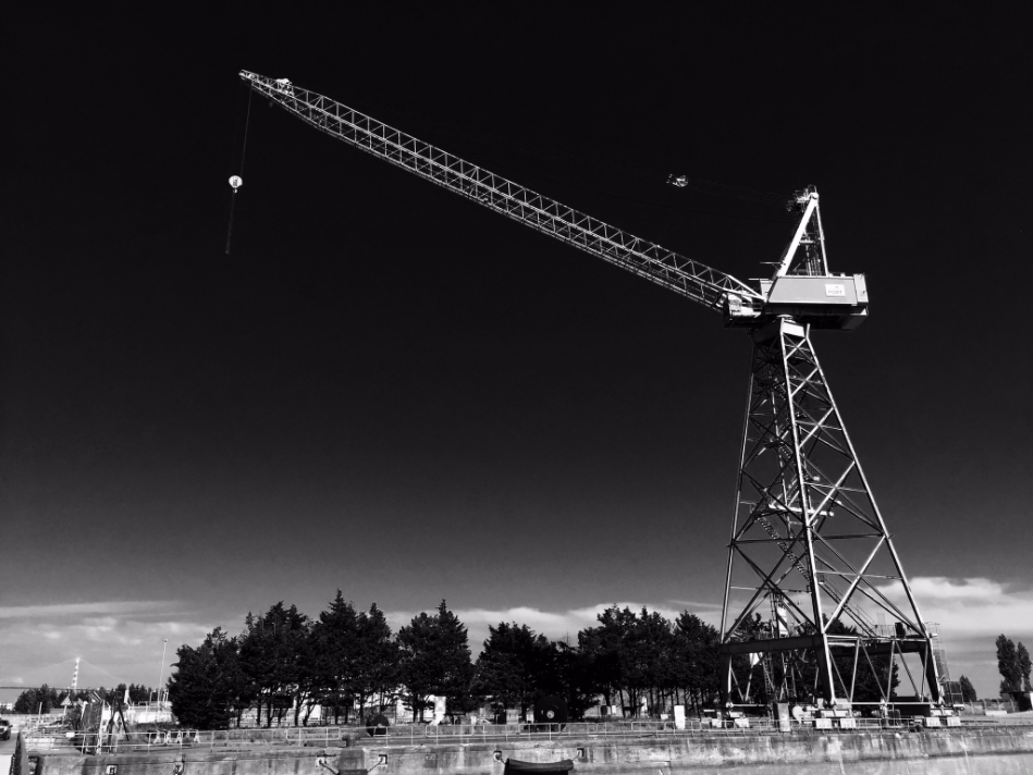
[[(901, 677), (915, 702), (938, 703), (929, 627), (810, 331), (786, 317), (752, 339), (721, 626), (723, 700), (766, 703), (791, 669), (798, 691), (829, 708), (891, 702), (906, 693), (895, 690)], [(778, 653), (786, 659), (764, 662)], [(907, 655), (920, 667), (900, 662)]]

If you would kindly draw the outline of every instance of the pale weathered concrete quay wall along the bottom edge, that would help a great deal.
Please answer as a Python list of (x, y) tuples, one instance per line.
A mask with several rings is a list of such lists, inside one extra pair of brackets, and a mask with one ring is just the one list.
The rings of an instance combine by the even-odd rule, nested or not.
[(1025, 775), (1033, 727), (33, 755), (35, 775), (520, 775), (506, 766), (511, 759), (568, 759), (586, 775)]

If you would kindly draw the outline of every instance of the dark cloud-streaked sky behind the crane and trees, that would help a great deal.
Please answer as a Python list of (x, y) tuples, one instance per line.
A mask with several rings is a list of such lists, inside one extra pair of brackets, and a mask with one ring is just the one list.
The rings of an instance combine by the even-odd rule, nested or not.
[(246, 69), (742, 279), (792, 230), (777, 200), (627, 168), (816, 185), (872, 297), (817, 352), (923, 613), (989, 692), (996, 632), (1033, 641), (1033, 84), (1017, 19), (942, 5), (12, 27), (0, 680), (82, 654), (152, 682), (162, 638), (337, 588), (554, 637), (720, 603), (747, 336), (260, 98), (225, 255)]

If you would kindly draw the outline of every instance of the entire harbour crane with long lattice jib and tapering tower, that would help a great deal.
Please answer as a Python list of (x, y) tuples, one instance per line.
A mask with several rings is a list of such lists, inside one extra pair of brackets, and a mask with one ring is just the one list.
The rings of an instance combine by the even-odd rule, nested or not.
[[(868, 318), (863, 274), (832, 273), (819, 194), (788, 202), (799, 222), (771, 279), (750, 284), (579, 212), (286, 78), (247, 71), (250, 88), (310, 126), (453, 194), (720, 312), (753, 345), (721, 622), (721, 693), (729, 708), (811, 697), (863, 704), (859, 675), (894, 702), (936, 715), (933, 633), (875, 503), (811, 331)], [(765, 618), (766, 616), (766, 618)], [(908, 666), (918, 660), (915, 669)], [(899, 665), (899, 667), (898, 667)], [(764, 678), (753, 676), (763, 671)], [(871, 682), (871, 681), (869, 681)], [(899, 698), (902, 699), (902, 698)], [(918, 709), (915, 709), (918, 710)]]

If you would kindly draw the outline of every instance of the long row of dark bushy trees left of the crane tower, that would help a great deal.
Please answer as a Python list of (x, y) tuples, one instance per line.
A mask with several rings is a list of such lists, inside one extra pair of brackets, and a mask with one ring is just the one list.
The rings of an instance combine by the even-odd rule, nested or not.
[(249, 613), (239, 635), (216, 628), (180, 647), (169, 699), (181, 724), (204, 729), (239, 725), (251, 709), (266, 726), (288, 714), (307, 725), (317, 705), (322, 723), (362, 722), (398, 699), (422, 721), (430, 696), (444, 697), (452, 715), (487, 705), (526, 718), (544, 696), (565, 699), (575, 718), (599, 698), (632, 716), (673, 704), (700, 712), (716, 700), (717, 642), (717, 630), (688, 612), (671, 622), (614, 605), (576, 644), (500, 622), (474, 660), (445, 601), (394, 632), (376, 603), (356, 610), (339, 590), (318, 617), (280, 602)]

